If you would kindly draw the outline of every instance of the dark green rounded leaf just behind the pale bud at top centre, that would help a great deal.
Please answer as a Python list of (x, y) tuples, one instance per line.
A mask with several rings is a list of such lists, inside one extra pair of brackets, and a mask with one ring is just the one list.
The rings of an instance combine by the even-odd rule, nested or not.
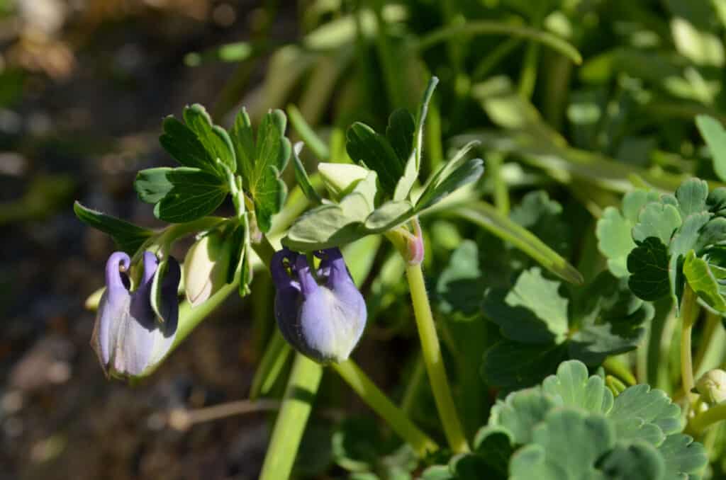
[(351, 159), (378, 173), (383, 191), (392, 196), (396, 183), (404, 175), (405, 165), (388, 139), (360, 122), (348, 127), (346, 138), (346, 150)]

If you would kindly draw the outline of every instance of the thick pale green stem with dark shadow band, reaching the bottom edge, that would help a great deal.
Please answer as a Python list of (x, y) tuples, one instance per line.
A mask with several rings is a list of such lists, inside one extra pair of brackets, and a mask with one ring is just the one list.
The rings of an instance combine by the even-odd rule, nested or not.
[(260, 480), (290, 477), (321, 378), (322, 366), (304, 355), (295, 355), (293, 371), (287, 381), (285, 398), (267, 447)]

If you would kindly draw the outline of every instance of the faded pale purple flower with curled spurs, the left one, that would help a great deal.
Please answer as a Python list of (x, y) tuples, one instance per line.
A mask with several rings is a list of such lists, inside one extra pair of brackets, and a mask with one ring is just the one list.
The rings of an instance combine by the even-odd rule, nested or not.
[(179, 320), (176, 289), (181, 278), (179, 262), (168, 257), (166, 274), (160, 278), (160, 314), (151, 306), (152, 283), (159, 260), (144, 252), (144, 272), (139, 286), (129, 291), (129, 255), (115, 252), (106, 262), (106, 291), (101, 297), (91, 347), (107, 376), (140, 376), (158, 363), (174, 343)]

